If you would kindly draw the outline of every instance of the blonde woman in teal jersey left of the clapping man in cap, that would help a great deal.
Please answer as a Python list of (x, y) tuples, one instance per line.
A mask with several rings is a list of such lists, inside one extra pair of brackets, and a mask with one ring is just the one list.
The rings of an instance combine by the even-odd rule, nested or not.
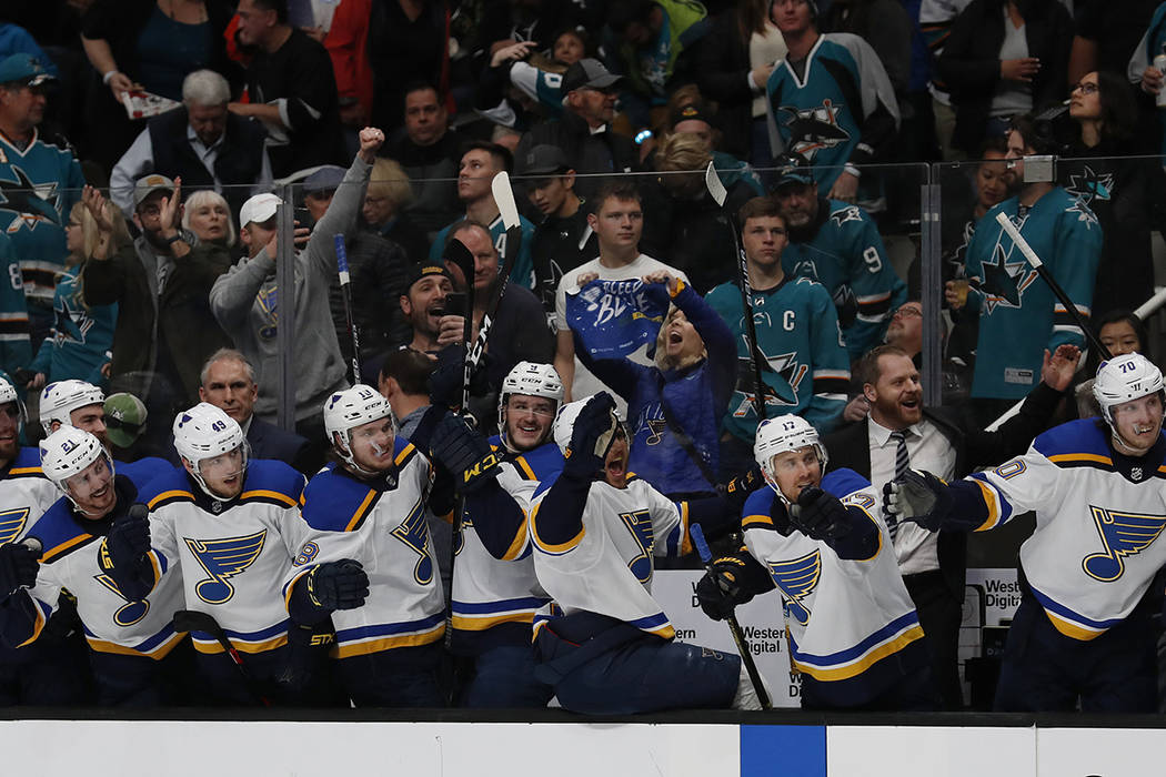
[(101, 203), (100, 220), (93, 218), (90, 207), (96, 193), (94, 189), (85, 186), (82, 202), (75, 203), (69, 211), (65, 224), (69, 256), (52, 295), (55, 324), (29, 365), (34, 375), (26, 388), (30, 390), (68, 379), (103, 386), (110, 377), (110, 349), (118, 306), (90, 305), (85, 301), (80, 270), (85, 262), (107, 259), (132, 240), (121, 211), (110, 203)]

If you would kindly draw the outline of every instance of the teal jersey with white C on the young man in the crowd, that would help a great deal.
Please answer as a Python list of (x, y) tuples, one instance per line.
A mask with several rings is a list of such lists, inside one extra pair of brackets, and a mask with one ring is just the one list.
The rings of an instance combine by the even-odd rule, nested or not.
[[(740, 287), (723, 283), (705, 302), (729, 325), (737, 341), (737, 388), (729, 402), (723, 428), (743, 440), (757, 436), (753, 375), (745, 340), (745, 312)], [(850, 358), (838, 329), (838, 315), (826, 289), (809, 278), (787, 276), (778, 285), (753, 291), (758, 366), (765, 381), (766, 412), (793, 412), (827, 432), (847, 404)]]

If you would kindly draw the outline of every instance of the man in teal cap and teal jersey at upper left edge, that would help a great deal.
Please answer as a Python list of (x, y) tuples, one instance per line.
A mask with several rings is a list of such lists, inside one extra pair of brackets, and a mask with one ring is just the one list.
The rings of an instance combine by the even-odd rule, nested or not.
[(52, 326), (52, 292), (69, 253), (65, 214), (85, 185), (69, 142), (38, 129), (55, 80), (31, 55), (0, 62), (0, 233), (20, 259), (34, 352)]

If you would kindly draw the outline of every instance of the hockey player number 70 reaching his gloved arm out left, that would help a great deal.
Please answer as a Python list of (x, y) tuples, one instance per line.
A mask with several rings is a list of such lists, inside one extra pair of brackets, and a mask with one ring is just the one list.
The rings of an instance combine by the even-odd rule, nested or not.
[(1156, 631), (1147, 591), (1166, 563), (1163, 375), (1131, 353), (1102, 362), (1102, 418), (1040, 435), (1024, 455), (944, 483), (908, 471), (886, 509), (927, 529), (984, 531), (1028, 510), (1023, 594), (996, 708), (1154, 712)]

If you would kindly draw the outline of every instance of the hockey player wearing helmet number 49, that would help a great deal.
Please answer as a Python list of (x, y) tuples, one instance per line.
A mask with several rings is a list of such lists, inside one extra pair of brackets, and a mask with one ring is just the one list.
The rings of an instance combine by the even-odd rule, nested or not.
[(205, 402), (175, 417), (174, 445), (182, 468), (139, 496), (149, 520), (131, 511), (114, 522), (122, 542), (110, 544), (111, 574), (122, 593), (141, 599), (170, 566), (181, 568), (187, 609), (213, 619), (254, 683), (219, 635), (191, 631), (208, 700), (302, 704), (309, 691), (297, 683), (280, 586), (300, 552), (303, 475), (282, 461), (248, 461), (239, 424)]

